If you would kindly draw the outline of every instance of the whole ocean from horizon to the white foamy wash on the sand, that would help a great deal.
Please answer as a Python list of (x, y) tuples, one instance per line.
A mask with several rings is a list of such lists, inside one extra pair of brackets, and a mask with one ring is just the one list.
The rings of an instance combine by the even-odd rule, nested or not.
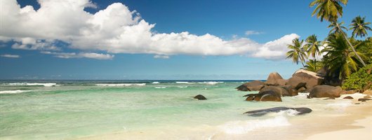
[[(345, 115), (351, 101), (246, 102), (234, 89), (247, 80), (1, 80), (0, 139), (267, 139), (304, 136), (310, 118)], [(197, 94), (207, 100), (193, 99)], [(248, 116), (277, 106), (308, 107)], [(291, 131), (288, 131), (291, 130)], [(291, 134), (291, 132), (296, 132)]]

